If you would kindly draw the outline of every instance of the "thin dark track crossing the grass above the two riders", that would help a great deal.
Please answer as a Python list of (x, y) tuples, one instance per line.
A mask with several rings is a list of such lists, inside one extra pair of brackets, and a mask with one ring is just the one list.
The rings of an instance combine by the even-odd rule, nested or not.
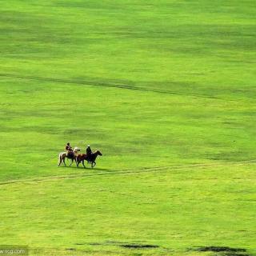
[(133, 85), (110, 84), (107, 82), (74, 81), (70, 79), (42, 78), (42, 77), (34, 77), (34, 76), (20, 76), (16, 74), (3, 74), (3, 73), (2, 74), (0, 73), (0, 76), (7, 77), (7, 78), (19, 78), (19, 79), (36, 80), (36, 81), (44, 81), (44, 82), (71, 83), (71, 84), (83, 85), (83, 86), (100, 86), (100, 87), (110, 87), (110, 88), (118, 88), (118, 89), (126, 89), (126, 90), (139, 90), (139, 91), (153, 92), (158, 94), (186, 95), (194, 98), (210, 98), (210, 99), (218, 99), (218, 100), (228, 101), (228, 102), (250, 102), (250, 101), (243, 101), (243, 100), (235, 100), (232, 98), (221, 98), (216, 96), (209, 96), (205, 94), (184, 94), (181, 92), (174, 92), (170, 90), (153, 90), (153, 89), (146, 89), (146, 88), (133, 86)]

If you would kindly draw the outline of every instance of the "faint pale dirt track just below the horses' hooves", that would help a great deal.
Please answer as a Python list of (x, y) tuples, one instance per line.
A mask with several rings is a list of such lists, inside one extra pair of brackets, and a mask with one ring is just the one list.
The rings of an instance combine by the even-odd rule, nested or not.
[[(17, 183), (38, 183), (38, 182), (50, 182), (56, 181), (59, 179), (70, 179), (70, 178), (81, 178), (81, 177), (95, 177), (95, 176), (112, 176), (112, 175), (133, 175), (133, 174), (148, 174), (148, 173), (157, 173), (163, 170), (182, 170), (184, 168), (206, 168), (206, 167), (220, 167), (220, 166), (239, 166), (244, 164), (254, 164), (256, 160), (246, 160), (239, 162), (220, 162), (220, 163), (205, 163), (205, 164), (189, 164), (189, 165), (176, 165), (176, 166), (155, 166), (155, 167), (146, 167), (139, 168), (135, 171), (133, 170), (113, 170), (111, 173), (95, 173), (95, 174), (66, 174), (62, 176), (42, 176), (42, 178), (23, 178), (23, 179), (14, 179), (6, 182), (0, 182), (0, 186), (17, 184)], [(91, 169), (89, 169), (91, 170)]]

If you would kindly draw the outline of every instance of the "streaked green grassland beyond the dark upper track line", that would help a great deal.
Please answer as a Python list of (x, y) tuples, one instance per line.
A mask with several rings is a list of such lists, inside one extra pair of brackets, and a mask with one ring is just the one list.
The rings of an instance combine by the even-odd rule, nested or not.
[(1, 73), (253, 101), (254, 12), (253, 1), (9, 1)]

